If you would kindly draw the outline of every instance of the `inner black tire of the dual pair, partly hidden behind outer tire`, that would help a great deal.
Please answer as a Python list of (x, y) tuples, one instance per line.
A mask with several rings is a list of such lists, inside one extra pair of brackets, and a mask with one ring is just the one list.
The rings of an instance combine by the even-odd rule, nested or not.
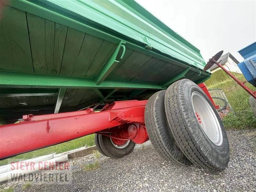
[(145, 124), (148, 137), (156, 151), (167, 161), (179, 165), (190, 165), (191, 162), (176, 145), (167, 123), (164, 110), (166, 90), (152, 95), (145, 108)]

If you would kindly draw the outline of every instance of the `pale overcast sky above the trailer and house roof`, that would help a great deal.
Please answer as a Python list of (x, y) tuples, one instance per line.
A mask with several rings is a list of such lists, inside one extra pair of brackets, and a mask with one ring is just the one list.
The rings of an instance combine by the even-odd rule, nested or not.
[(256, 0), (136, 0), (164, 24), (195, 45), (207, 62), (217, 52), (237, 52), (256, 41)]

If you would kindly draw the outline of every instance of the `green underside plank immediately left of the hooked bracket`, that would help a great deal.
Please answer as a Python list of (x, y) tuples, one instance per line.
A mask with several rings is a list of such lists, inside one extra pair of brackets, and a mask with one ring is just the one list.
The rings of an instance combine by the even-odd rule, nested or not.
[(117, 44), (111, 43), (109, 41), (104, 40), (100, 46), (99, 51), (97, 52), (94, 60), (92, 61), (91, 66), (85, 74), (85, 77), (94, 77), (103, 67), (105, 62), (111, 56), (111, 54), (115, 51)]

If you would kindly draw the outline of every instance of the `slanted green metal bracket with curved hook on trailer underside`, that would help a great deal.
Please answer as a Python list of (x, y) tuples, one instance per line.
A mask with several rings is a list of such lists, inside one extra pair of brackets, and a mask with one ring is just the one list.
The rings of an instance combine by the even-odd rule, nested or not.
[(113, 54), (109, 57), (107, 62), (104, 64), (104, 66), (101, 68), (99, 73), (96, 75), (95, 83), (97, 85), (101, 84), (107, 78), (107, 76), (111, 73), (111, 71), (113, 71), (113, 69), (119, 63), (119, 61), (116, 60), (116, 57), (117, 57), (117, 54), (118, 54), (118, 52), (119, 52), (121, 47), (123, 47), (123, 53), (122, 53), (120, 59), (123, 59), (124, 53), (125, 53), (125, 46), (123, 44), (125, 44), (125, 43), (126, 42), (124, 42), (124, 41), (120, 41), (120, 43), (116, 47), (116, 49), (113, 52)]

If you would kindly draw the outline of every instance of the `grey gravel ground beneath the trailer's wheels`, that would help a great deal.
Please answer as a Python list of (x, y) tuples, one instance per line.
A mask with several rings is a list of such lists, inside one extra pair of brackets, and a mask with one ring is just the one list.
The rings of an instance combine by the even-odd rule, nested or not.
[[(170, 164), (148, 141), (122, 159), (88, 156), (74, 160), (71, 184), (32, 184), (25, 191), (256, 191), (256, 138), (248, 140), (252, 132), (227, 132), (230, 162), (221, 172)], [(83, 170), (95, 161), (99, 161), (98, 169)], [(24, 183), (4, 183), (2, 188), (7, 185), (22, 191)]]

